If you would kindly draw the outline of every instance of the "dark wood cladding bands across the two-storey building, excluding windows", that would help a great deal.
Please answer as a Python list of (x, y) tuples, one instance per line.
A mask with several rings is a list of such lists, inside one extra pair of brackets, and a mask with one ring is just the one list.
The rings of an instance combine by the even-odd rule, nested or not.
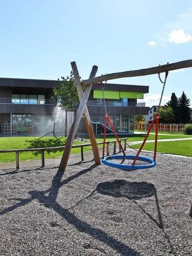
[[(54, 113), (56, 103), (51, 101), (53, 95), (52, 89), (59, 86), (58, 80), (38, 80), (38, 79), (15, 79), (15, 78), (0, 78), (0, 124), (4, 121), (10, 122), (11, 115), (51, 115)], [(93, 84), (89, 100), (94, 99), (93, 91), (101, 90), (100, 84)], [(122, 92), (148, 92), (148, 86), (133, 86), (127, 84), (112, 84), (105, 85), (105, 90), (122, 91)], [(44, 95), (44, 104), (15, 104), (12, 103), (14, 94), (35, 94)], [(112, 100), (113, 101), (113, 100)], [(136, 105), (136, 99), (129, 100), (130, 105), (127, 106), (108, 106), (108, 114), (110, 115), (145, 115), (148, 114), (149, 108)], [(103, 105), (88, 104), (90, 115), (104, 115)]]

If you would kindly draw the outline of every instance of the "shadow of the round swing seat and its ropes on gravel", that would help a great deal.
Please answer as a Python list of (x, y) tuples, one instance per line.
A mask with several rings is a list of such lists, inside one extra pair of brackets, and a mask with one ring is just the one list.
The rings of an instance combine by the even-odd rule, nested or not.
[[(140, 209), (153, 221), (156, 223), (158, 228), (163, 230), (164, 236), (167, 239), (172, 252), (174, 252), (174, 248), (167, 233), (164, 230), (163, 219), (161, 215), (161, 210), (158, 203), (157, 190), (152, 183), (147, 182), (127, 182), (123, 179), (116, 179), (113, 182), (104, 182), (98, 184), (96, 190), (98, 193), (113, 197), (126, 197), (127, 199), (132, 200)], [(136, 200), (155, 196), (155, 202), (158, 213), (158, 221), (154, 219), (154, 217), (146, 212), (146, 210), (138, 204)]]

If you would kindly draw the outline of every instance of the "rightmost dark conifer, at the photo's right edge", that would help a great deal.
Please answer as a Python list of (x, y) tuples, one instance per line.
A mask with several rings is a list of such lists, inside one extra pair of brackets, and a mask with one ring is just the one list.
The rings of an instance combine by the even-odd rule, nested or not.
[(182, 96), (178, 99), (178, 120), (180, 123), (186, 124), (190, 122), (191, 109), (190, 100), (187, 99), (186, 94), (183, 92)]

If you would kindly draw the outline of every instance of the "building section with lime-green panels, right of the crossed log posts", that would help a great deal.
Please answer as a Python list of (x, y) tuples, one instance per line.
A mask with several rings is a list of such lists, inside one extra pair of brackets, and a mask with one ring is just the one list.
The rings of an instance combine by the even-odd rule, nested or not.
[[(134, 132), (134, 115), (146, 115), (150, 108), (137, 103), (148, 93), (148, 86), (107, 83), (103, 94), (106, 111), (117, 133)], [(100, 84), (93, 84), (87, 103), (95, 134), (103, 133), (105, 108)], [(110, 128), (110, 127), (109, 127)], [(108, 129), (110, 132), (110, 129)]]

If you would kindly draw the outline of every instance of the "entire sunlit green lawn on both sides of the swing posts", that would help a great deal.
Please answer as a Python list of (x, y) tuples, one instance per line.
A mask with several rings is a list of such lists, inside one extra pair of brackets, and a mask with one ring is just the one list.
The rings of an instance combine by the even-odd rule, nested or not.
[[(134, 134), (129, 136), (127, 142), (133, 142), (133, 141), (143, 141), (145, 137), (145, 134)], [(166, 135), (159, 134), (158, 140), (162, 140), (165, 138), (184, 138), (184, 137), (192, 137), (189, 135), (184, 134), (171, 134), (167, 133)], [(66, 142), (65, 137), (59, 137), (62, 141), (59, 142), (55, 137), (44, 137), (38, 140), (38, 136), (36, 137), (29, 137), (29, 136), (20, 136), (20, 137), (0, 137), (0, 150), (8, 150), (8, 149), (24, 149), (24, 148), (41, 148), (41, 147), (56, 147), (56, 146), (62, 146)], [(150, 134), (147, 138), (147, 140), (154, 140), (155, 135)], [(114, 137), (109, 137), (106, 140), (115, 140)], [(98, 142), (102, 142), (103, 138), (97, 138)], [(74, 141), (74, 144), (82, 144), (82, 143), (89, 143), (89, 140), (87, 142), (81, 142), (81, 141)], [(102, 145), (100, 145), (102, 147)], [(134, 145), (135, 148), (138, 148), (139, 145)], [(164, 152), (164, 153), (172, 153), (172, 154), (178, 154), (178, 155), (186, 155), (186, 156), (192, 156), (192, 141), (179, 141), (179, 142), (158, 142), (158, 151)], [(90, 147), (87, 147), (88, 150)], [(154, 143), (146, 143), (145, 150), (153, 151), (154, 149)], [(63, 153), (63, 150), (61, 151), (55, 151), (55, 152), (45, 152), (45, 157), (58, 157), (61, 156)], [(80, 153), (80, 148), (73, 148), (71, 151), (71, 154), (74, 153)], [(40, 153), (38, 152), (23, 152), (19, 154), (20, 161), (25, 161), (28, 159), (38, 159), (41, 158)], [(0, 162), (15, 162), (15, 153), (0, 153)]]

